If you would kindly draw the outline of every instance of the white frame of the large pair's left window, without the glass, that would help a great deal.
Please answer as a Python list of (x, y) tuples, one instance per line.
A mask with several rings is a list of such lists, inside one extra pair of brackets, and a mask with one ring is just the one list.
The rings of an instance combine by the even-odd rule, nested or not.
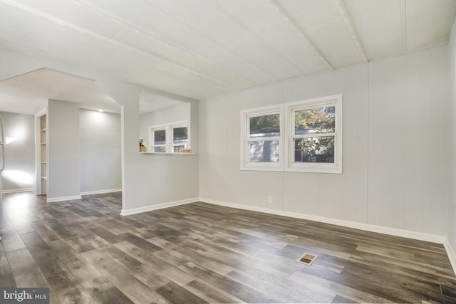
[[(250, 117), (279, 114), (280, 136), (261, 137), (258, 141), (278, 140), (279, 141), (279, 162), (249, 162), (249, 142), (257, 141), (250, 138)], [(283, 171), (284, 168), (284, 107), (273, 105), (261, 108), (254, 108), (241, 111), (241, 169), (242, 170), (264, 170)]]

